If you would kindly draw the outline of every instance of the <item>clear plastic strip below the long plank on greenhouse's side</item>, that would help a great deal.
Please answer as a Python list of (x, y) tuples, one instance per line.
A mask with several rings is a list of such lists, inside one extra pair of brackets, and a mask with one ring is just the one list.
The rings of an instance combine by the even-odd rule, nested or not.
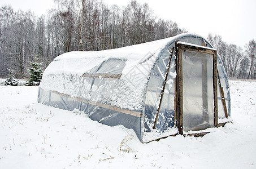
[(75, 97), (70, 97), (68, 95), (44, 91), (42, 88), (39, 88), (38, 91), (38, 103), (64, 110), (72, 111), (74, 109), (79, 109), (80, 111), (85, 112), (85, 114), (88, 114), (90, 119), (102, 124), (107, 124), (108, 126), (122, 124), (124, 127), (132, 128), (136, 132), (138, 138), (141, 139), (140, 117), (88, 104), (83, 100), (75, 99)]

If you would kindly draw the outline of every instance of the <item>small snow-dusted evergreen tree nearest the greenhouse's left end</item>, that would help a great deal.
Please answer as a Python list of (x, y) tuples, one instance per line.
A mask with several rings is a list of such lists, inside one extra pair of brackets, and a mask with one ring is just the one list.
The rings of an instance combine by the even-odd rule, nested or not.
[(31, 62), (28, 68), (28, 73), (30, 75), (29, 81), (25, 83), (25, 86), (38, 86), (42, 79), (42, 69), (41, 63), (38, 63), (37, 57), (34, 58), (34, 62)]

